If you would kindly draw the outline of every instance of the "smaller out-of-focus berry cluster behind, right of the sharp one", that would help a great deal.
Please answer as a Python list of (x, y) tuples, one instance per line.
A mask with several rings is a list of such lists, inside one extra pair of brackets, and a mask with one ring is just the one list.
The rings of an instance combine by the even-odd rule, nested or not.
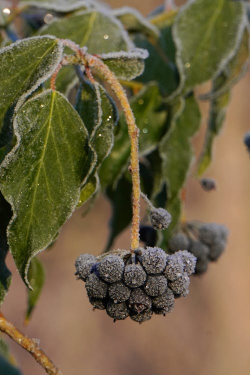
[(186, 223), (183, 231), (175, 233), (168, 241), (170, 252), (188, 250), (196, 258), (194, 273), (206, 271), (209, 261), (215, 261), (224, 251), (228, 230), (224, 225), (210, 223)]

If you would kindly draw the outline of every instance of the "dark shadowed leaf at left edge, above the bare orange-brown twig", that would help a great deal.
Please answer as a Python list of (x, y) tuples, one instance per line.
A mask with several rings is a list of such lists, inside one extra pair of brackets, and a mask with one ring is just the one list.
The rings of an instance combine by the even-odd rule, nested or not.
[(0, 192), (0, 305), (7, 294), (11, 282), (11, 272), (5, 264), (5, 257), (8, 252), (6, 229), (11, 216), (10, 205)]

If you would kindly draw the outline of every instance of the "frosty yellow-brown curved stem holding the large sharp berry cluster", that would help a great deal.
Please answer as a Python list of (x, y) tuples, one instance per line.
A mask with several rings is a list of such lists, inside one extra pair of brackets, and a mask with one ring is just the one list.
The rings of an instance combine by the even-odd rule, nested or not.
[(139, 247), (139, 212), (140, 212), (140, 179), (139, 179), (139, 151), (138, 151), (138, 135), (139, 129), (135, 124), (135, 118), (132, 109), (129, 105), (127, 96), (124, 89), (119, 83), (116, 76), (111, 70), (96, 56), (85, 54), (86, 61), (89, 67), (93, 67), (101, 72), (106, 79), (107, 83), (110, 84), (112, 91), (118, 98), (120, 105), (123, 109), (128, 134), (130, 137), (131, 148), (130, 148), (130, 165), (129, 170), (132, 177), (132, 227), (130, 237), (130, 251)]

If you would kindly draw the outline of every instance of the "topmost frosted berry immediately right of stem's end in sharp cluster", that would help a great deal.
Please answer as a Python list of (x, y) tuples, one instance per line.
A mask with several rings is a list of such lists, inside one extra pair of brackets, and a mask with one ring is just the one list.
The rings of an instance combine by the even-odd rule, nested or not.
[(142, 249), (140, 259), (147, 273), (161, 273), (166, 265), (166, 253), (160, 247)]

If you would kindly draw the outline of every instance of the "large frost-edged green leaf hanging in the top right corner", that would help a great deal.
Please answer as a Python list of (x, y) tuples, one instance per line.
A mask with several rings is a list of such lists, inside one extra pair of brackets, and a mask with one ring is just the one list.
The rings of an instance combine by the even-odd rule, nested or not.
[(245, 24), (240, 1), (187, 1), (173, 24), (179, 88), (190, 90), (218, 74), (235, 53)]

